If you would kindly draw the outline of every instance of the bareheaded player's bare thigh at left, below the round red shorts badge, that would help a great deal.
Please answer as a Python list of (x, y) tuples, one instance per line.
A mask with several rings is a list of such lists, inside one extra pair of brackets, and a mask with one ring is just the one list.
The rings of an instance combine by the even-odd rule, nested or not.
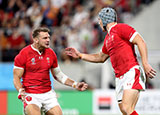
[(35, 104), (28, 104), (24, 110), (26, 115), (41, 115), (40, 108)]

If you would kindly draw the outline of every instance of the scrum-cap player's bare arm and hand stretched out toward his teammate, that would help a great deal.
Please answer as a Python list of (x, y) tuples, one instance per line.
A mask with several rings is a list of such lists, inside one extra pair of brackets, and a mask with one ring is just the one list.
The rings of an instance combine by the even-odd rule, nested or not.
[(102, 52), (99, 52), (97, 54), (84, 54), (71, 47), (66, 48), (65, 53), (69, 56), (72, 56), (73, 58), (82, 59), (93, 63), (103, 63), (109, 58), (109, 55)]

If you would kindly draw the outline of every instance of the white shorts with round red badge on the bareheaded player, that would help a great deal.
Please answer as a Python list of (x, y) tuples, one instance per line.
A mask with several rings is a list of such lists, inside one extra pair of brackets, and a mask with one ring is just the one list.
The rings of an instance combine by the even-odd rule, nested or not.
[(47, 112), (57, 105), (60, 106), (54, 90), (41, 94), (26, 93), (24, 109), (29, 104), (37, 105), (44, 112)]

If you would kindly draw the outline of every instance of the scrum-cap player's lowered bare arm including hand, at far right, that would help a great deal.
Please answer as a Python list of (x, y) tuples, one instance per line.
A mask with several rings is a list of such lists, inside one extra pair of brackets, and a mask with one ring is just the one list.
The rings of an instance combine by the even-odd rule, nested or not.
[(143, 68), (144, 68), (146, 75), (151, 79), (154, 78), (156, 76), (156, 71), (148, 63), (148, 53), (147, 53), (146, 43), (144, 42), (144, 40), (139, 34), (135, 36), (132, 43), (138, 46), (138, 50), (141, 55), (142, 64), (143, 64)]

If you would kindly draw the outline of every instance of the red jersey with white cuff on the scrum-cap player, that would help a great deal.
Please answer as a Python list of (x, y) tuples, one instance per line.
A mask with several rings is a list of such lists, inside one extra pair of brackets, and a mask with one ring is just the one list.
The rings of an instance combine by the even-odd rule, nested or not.
[(130, 68), (138, 65), (132, 40), (137, 35), (134, 28), (127, 24), (116, 24), (105, 37), (102, 52), (110, 56), (115, 76), (120, 77)]

